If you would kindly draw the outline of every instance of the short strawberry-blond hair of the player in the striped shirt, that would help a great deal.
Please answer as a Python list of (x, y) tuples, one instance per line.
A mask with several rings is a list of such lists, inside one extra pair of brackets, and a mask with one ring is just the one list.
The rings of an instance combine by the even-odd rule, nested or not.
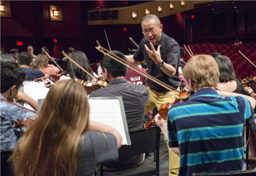
[(182, 71), (184, 79), (194, 81), (196, 90), (203, 87), (216, 87), (219, 82), (219, 68), (210, 55), (196, 55), (188, 60)]

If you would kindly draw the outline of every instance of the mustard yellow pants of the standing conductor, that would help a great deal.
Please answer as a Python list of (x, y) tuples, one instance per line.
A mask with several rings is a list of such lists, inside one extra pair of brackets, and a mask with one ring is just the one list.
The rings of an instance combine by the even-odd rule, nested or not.
[[(148, 113), (151, 109), (154, 107), (157, 107), (157, 109), (160, 108), (162, 104), (165, 103), (173, 103), (174, 99), (179, 95), (180, 87), (177, 88), (177, 91), (168, 91), (165, 93), (159, 93), (156, 91), (153, 91), (150, 89), (149, 86), (147, 86), (148, 92), (150, 93), (150, 99), (148, 100), (146, 104), (146, 111), (145, 114)], [(168, 142), (165, 139), (166, 144), (168, 146)], [(172, 149), (168, 146), (169, 151), (169, 176), (178, 176), (179, 174), (179, 165), (180, 165), (180, 157), (176, 155)]]

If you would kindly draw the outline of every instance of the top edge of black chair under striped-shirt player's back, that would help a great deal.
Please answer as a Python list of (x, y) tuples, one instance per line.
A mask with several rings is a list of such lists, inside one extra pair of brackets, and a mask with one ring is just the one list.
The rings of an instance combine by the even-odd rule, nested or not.
[(229, 171), (229, 172), (201, 172), (201, 173), (193, 173), (193, 176), (255, 176), (256, 168), (245, 170), (245, 171)]

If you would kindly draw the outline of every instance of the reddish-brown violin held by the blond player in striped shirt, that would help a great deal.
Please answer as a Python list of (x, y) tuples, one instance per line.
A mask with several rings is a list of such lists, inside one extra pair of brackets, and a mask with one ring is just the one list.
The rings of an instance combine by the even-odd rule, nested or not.
[[(167, 120), (167, 115), (168, 115), (168, 111), (169, 111), (169, 108), (176, 104), (176, 103), (179, 103), (179, 102), (184, 102), (184, 101), (187, 101), (190, 96), (191, 96), (191, 92), (188, 91), (188, 92), (185, 92), (184, 89), (182, 89), (180, 91), (181, 93), (175, 98), (174, 102), (173, 103), (165, 103), (165, 104), (162, 104), (158, 110), (158, 113), (161, 115), (161, 117), (165, 120)], [(150, 129), (153, 125), (155, 124), (155, 119), (152, 119), (150, 122), (148, 122), (147, 124), (144, 124), (144, 128), (147, 130), (147, 129)]]

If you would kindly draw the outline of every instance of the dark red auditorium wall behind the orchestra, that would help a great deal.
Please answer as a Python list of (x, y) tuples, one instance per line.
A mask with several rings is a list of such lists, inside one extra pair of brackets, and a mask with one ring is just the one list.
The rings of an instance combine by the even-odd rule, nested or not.
[[(140, 25), (88, 26), (87, 10), (97, 7), (131, 6), (139, 3), (145, 2), (10, 1), (12, 16), (1, 17), (1, 48), (7, 52), (12, 48), (18, 48), (22, 52), (27, 51), (29, 45), (34, 47), (34, 51), (47, 46), (50, 55), (61, 59), (63, 57), (61, 51), (67, 52), (69, 47), (73, 47), (86, 53), (93, 63), (102, 58), (102, 54), (95, 49), (96, 40), (102, 47), (109, 49), (105, 30), (111, 49), (128, 54), (128, 48), (136, 48), (129, 37), (132, 37), (138, 44), (143, 38)], [(63, 21), (49, 19), (50, 5), (63, 7)], [(192, 19), (190, 15), (195, 15), (195, 18)], [(191, 14), (189, 11), (163, 17), (160, 20), (163, 24), (163, 32), (178, 41), (180, 46), (186, 43), (203, 42), (209, 35), (221, 35), (226, 32), (227, 25), (226, 14)], [(123, 31), (123, 28), (127, 31)], [(192, 41), (190, 28), (193, 31)], [(57, 38), (57, 43), (53, 42), (53, 38)], [(18, 47), (16, 41), (23, 41), (24, 45)], [(215, 42), (222, 43), (216, 40)]]

